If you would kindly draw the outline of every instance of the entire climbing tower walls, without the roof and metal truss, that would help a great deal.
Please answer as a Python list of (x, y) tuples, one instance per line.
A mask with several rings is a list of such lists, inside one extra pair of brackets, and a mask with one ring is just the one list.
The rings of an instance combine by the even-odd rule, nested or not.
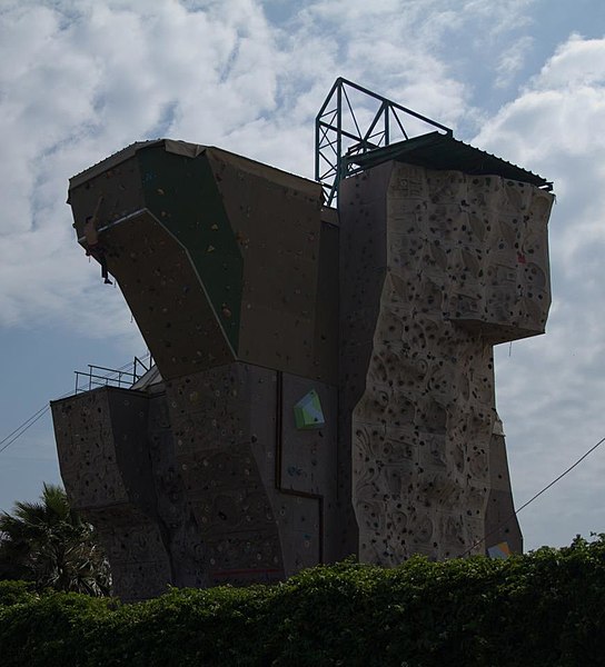
[(338, 227), (316, 183), (157, 143), (78, 177), (79, 233), (101, 192), (163, 382), (52, 411), (118, 595), (454, 557), (486, 530), (520, 549), (492, 346), (544, 330), (548, 193), (387, 162), (341, 183)]

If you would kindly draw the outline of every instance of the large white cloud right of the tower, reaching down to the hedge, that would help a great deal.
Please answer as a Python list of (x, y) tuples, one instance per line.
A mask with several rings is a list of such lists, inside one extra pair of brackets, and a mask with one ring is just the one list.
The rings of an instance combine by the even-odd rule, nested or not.
[[(553, 179), (557, 192), (551, 221), (554, 307), (547, 335), (515, 344), (510, 358), (506, 349), (498, 350), (498, 405), (507, 424), (519, 500), (605, 435), (603, 118), (605, 39), (572, 36), (475, 140)], [(522, 519), (527, 517), (529, 531), (545, 542), (568, 541), (569, 522), (559, 519), (563, 507), (574, 516), (577, 531), (599, 529), (602, 518), (595, 512), (583, 517), (585, 499), (569, 489), (589, 488), (594, 505), (603, 506), (604, 452), (595, 451), (572, 472), (575, 486), (561, 482), (561, 491), (557, 485), (525, 510)]]

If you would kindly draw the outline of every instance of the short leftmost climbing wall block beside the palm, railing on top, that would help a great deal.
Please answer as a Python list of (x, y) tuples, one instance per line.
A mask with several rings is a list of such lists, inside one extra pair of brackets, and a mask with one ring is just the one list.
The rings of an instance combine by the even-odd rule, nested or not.
[(52, 404), (61, 477), (71, 506), (91, 521), (125, 599), (171, 581), (147, 446), (148, 399), (102, 388)]

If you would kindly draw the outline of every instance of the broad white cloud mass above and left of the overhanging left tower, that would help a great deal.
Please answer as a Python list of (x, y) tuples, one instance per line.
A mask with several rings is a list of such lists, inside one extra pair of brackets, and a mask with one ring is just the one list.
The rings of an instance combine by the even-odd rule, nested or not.
[[(454, 121), (465, 88), (430, 52), (437, 13), (400, 9), (353, 2), (337, 23), (339, 2), (307, 3), (286, 31), (252, 0), (6, 6), (0, 325), (81, 327), (85, 292), (97, 289), (93, 328), (116, 332), (106, 316), (119, 308), (82, 267), (63, 202), (70, 176), (135, 140), (219, 145), (311, 176), (314, 117), (339, 73)], [(415, 32), (426, 37), (401, 39)]]

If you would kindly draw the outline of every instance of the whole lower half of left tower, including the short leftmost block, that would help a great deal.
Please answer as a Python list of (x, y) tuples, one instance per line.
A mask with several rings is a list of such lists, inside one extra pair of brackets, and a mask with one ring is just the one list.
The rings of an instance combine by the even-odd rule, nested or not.
[[(308, 396), (310, 426), (295, 411)], [(335, 387), (235, 362), (52, 412), (66, 487), (125, 600), (274, 581), (346, 555)]]

